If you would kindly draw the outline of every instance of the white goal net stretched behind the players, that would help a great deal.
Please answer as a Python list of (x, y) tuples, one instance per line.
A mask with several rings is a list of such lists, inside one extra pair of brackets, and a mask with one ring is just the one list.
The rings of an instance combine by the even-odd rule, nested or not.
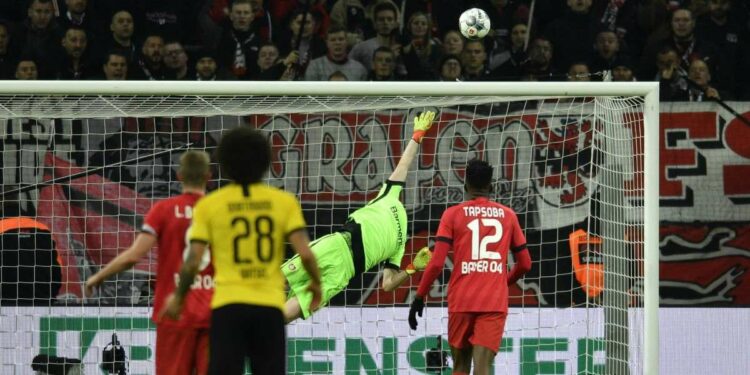
[[(47, 355), (101, 374), (113, 334), (128, 373), (153, 373), (156, 252), (94, 296), (82, 283), (128, 248), (152, 204), (180, 192), (185, 150), (261, 129), (267, 182), (297, 195), (317, 238), (374, 197), (428, 109), (438, 115), (402, 196), (403, 264), (434, 244), (475, 158), (493, 165), (493, 199), (527, 236), (532, 270), (510, 287), (495, 373), (656, 373), (654, 95), (637, 83), (2, 83), (0, 373), (33, 373)], [(214, 176), (209, 189), (226, 182)], [(29, 221), (13, 227), (17, 217)], [(406, 318), (420, 275), (384, 292), (379, 272), (288, 327), (289, 373), (450, 373), (450, 258), (416, 331)]]

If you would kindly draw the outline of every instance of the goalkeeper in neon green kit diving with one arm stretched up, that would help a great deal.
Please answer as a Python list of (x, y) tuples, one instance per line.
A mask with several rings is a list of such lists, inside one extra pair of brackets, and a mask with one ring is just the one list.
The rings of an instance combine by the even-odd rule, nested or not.
[[(383, 290), (396, 289), (416, 271), (423, 270), (432, 253), (422, 248), (412, 264), (401, 269), (401, 258), (406, 244), (406, 209), (400, 200), (419, 144), (432, 126), (435, 112), (423, 112), (414, 118), (414, 134), (406, 146), (396, 169), (380, 189), (378, 196), (366, 206), (352, 212), (341, 231), (313, 241), (310, 247), (318, 261), (323, 289), (320, 306), (344, 290), (351, 278), (385, 262)], [(309, 276), (298, 255), (282, 265), (289, 282), (289, 298), (284, 311), (287, 323), (302, 317), (307, 319), (312, 295), (306, 290)]]

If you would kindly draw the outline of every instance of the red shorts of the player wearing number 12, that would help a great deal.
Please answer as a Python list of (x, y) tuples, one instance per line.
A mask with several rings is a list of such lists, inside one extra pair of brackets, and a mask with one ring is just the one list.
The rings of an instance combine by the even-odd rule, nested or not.
[(448, 343), (454, 348), (479, 345), (497, 353), (507, 312), (448, 313)]

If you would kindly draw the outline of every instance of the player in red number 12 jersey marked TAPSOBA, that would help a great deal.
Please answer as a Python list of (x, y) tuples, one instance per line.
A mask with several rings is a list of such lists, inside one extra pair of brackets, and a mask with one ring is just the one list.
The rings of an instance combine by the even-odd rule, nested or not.
[[(468, 200), (449, 207), (440, 219), (432, 260), (409, 309), (409, 325), (417, 329), (424, 297), (453, 249), (453, 272), (448, 283), (448, 343), (453, 374), (489, 374), (500, 349), (508, 314), (508, 286), (531, 269), (526, 237), (516, 213), (489, 195), (492, 167), (472, 160), (466, 166), (464, 188)], [(507, 274), (508, 250), (516, 264)]]

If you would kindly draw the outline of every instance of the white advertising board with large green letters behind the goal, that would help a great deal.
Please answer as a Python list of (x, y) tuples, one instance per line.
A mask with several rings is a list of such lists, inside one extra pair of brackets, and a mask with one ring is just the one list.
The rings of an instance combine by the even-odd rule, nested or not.
[[(129, 374), (152, 374), (156, 335), (149, 314), (148, 308), (0, 308), (0, 373), (33, 374), (33, 357), (48, 354), (80, 359), (84, 374), (102, 374), (101, 349), (116, 333)], [(407, 308), (332, 307), (292, 324), (289, 373), (426, 374), (426, 355), (437, 347), (437, 336), (448, 350), (447, 311), (428, 307), (417, 331), (409, 330), (407, 314)], [(511, 309), (495, 373), (602, 373), (602, 315), (597, 309)], [(747, 309), (662, 309), (660, 331), (664, 375), (750, 373), (743, 351), (750, 340)], [(631, 330), (631, 343), (638, 342), (637, 334)], [(631, 349), (634, 355), (637, 348)]]

